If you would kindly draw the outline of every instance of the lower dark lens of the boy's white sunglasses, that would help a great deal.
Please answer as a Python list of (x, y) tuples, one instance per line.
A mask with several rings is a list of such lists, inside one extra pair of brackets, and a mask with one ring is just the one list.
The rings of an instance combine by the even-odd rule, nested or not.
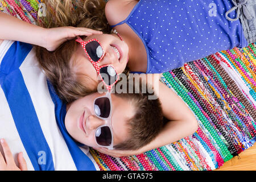
[(96, 141), (101, 146), (110, 146), (112, 142), (111, 130), (108, 126), (100, 127), (96, 130)]

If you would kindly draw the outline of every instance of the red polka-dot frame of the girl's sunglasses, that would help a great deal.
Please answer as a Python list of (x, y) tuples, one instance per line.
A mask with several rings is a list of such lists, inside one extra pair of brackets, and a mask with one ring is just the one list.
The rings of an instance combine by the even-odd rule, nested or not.
[[(90, 58), (88, 52), (86, 51), (85, 46), (86, 46), (86, 44), (88, 44), (90, 42), (93, 42), (93, 41), (96, 41), (101, 46), (101, 43), (97, 39), (91, 39), (91, 40), (88, 40), (88, 41), (84, 41), (79, 36), (76, 39), (76, 42), (78, 42), (78, 43), (80, 43), (82, 45), (82, 48), (84, 49), (84, 51), (86, 53), (86, 56), (89, 58), (90, 62), (93, 64), (93, 67), (96, 69), (96, 72), (98, 73), (98, 75), (100, 75), (101, 80), (103, 81), (103, 83), (106, 86), (106, 88), (108, 90), (111, 90), (112, 86), (119, 80), (119, 75), (118, 75), (117, 71), (115, 70), (115, 68), (113, 67), (113, 65), (111, 65), (111, 64), (102, 65), (101, 67), (98, 66), (98, 63), (102, 60), (102, 58), (105, 55), (105, 51), (104, 51), (102, 46), (101, 46), (101, 48), (102, 48), (103, 53), (102, 53), (102, 56), (100, 57), (100, 59), (98, 61), (93, 61), (92, 58)], [(115, 82), (113, 84), (111, 84), (111, 85), (106, 84), (106, 82), (104, 81), (104, 79), (102, 78), (101, 73), (100, 73), (100, 69), (101, 68), (108, 67), (108, 66), (114, 68), (115, 73), (117, 73), (117, 80), (115, 80)]]

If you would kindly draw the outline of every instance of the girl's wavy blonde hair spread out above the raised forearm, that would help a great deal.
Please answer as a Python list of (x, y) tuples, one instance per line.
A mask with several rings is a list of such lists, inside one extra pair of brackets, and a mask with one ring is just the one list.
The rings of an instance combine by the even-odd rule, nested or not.
[(105, 16), (103, 0), (47, 0), (46, 16), (38, 19), (38, 25), (53, 27), (86, 27), (109, 34), (111, 28)]

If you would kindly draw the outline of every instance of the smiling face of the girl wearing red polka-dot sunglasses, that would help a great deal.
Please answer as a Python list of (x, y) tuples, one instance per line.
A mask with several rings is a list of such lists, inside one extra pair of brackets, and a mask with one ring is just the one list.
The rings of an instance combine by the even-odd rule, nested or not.
[[(87, 36), (84, 41), (91, 39), (97, 39), (102, 48), (104, 49), (105, 55), (102, 60), (98, 63), (98, 66), (110, 64), (112, 65), (117, 73), (122, 73), (127, 65), (129, 48), (125, 42), (123, 42), (116, 34), (101, 34), (101, 35), (91, 35)], [(89, 76), (92, 80), (99, 82), (98, 74), (93, 64), (87, 57), (84, 49), (81, 45), (76, 51), (76, 61), (75, 61), (75, 72), (84, 73), (84, 75)]]

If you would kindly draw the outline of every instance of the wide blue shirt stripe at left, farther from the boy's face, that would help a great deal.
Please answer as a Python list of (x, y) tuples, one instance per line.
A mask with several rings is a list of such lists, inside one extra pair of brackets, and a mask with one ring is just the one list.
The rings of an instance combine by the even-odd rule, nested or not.
[[(54, 170), (51, 150), (44, 138), (30, 94), (28, 93), (20, 65), (31, 51), (30, 44), (14, 42), (3, 57), (0, 68), (0, 85), (5, 93), (16, 129), (36, 171)], [(44, 152), (46, 164), (40, 163)]]

